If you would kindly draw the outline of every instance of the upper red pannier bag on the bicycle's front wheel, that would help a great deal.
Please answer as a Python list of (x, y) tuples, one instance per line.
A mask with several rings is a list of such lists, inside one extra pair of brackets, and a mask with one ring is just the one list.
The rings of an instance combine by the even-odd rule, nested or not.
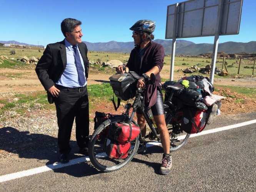
[(115, 123), (108, 129), (108, 138), (120, 143), (129, 142), (140, 134), (140, 127), (133, 123)]

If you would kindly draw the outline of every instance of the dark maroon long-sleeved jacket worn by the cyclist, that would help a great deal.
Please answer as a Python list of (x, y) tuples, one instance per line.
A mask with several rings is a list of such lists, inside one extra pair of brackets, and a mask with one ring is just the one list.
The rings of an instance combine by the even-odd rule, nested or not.
[[(131, 50), (130, 58), (126, 65), (130, 71), (135, 71), (142, 76), (143, 73), (146, 73), (154, 66), (158, 66), (159, 72), (162, 70), (165, 50), (161, 44), (150, 41), (150, 44), (148, 45), (148, 48), (146, 48), (141, 61), (139, 50), (140, 47), (138, 46)], [(156, 74), (156, 85), (161, 86), (160, 73)]]

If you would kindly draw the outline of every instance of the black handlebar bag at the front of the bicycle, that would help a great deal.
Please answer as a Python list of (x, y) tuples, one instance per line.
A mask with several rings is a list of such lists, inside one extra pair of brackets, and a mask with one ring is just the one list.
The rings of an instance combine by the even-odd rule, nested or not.
[(119, 99), (127, 101), (136, 94), (136, 79), (130, 73), (116, 73), (110, 78), (110, 85)]

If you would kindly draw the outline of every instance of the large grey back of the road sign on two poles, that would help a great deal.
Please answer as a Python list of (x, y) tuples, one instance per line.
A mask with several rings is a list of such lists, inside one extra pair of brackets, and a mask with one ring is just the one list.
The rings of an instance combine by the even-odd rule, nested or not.
[(220, 22), (219, 35), (239, 33), (242, 0), (224, 0), (218, 21), (219, 0), (189, 0), (167, 7), (166, 39), (173, 38), (174, 21), (177, 23), (176, 38), (214, 36)]

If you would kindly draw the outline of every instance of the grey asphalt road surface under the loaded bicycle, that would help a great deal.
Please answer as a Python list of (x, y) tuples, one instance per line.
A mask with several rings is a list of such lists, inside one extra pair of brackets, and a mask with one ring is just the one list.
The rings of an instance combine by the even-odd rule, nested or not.
[[(256, 113), (220, 116), (205, 130), (256, 119)], [(1, 191), (256, 191), (256, 123), (191, 137), (172, 152), (169, 175), (158, 174), (162, 148), (148, 148), (121, 170), (105, 173), (90, 162), (50, 169), (47, 160), (1, 161)], [(74, 155), (72, 158), (84, 158)], [(48, 165), (48, 171), (42, 166)], [(38, 168), (39, 167), (39, 168)], [(41, 168), (40, 168), (41, 167)], [(45, 166), (46, 167), (46, 166)], [(3, 181), (7, 174), (38, 168), (31, 175)], [(42, 171), (42, 172), (40, 172)], [(39, 173), (38, 173), (39, 172)], [(2, 176), (1, 176), (2, 175)]]

